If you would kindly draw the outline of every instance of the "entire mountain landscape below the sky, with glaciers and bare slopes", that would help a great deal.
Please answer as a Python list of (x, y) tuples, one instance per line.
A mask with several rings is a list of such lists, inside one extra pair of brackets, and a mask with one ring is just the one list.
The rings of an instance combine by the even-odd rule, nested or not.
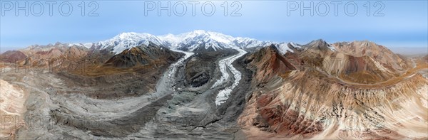
[(428, 138), (428, 55), (371, 41), (121, 33), (0, 59), (1, 139)]

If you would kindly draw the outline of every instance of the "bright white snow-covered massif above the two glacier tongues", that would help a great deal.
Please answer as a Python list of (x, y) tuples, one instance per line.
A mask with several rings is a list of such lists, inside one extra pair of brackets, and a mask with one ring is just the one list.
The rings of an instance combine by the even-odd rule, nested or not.
[(178, 35), (167, 34), (163, 36), (134, 32), (120, 33), (109, 40), (96, 43), (96, 47), (98, 49), (109, 49), (117, 54), (128, 48), (138, 45), (148, 45), (150, 43), (188, 51), (199, 49), (251, 48), (272, 44), (270, 41), (258, 41), (253, 38), (233, 37), (213, 31), (196, 30)]

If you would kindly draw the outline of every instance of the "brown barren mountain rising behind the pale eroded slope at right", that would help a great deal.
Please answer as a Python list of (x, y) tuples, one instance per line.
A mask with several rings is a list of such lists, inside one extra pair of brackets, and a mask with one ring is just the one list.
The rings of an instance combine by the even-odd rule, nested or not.
[(330, 45), (322, 40), (312, 41), (295, 49), (295, 55), (304, 63), (304, 67), (326, 72), (345, 82), (360, 84), (384, 82), (402, 75), (408, 68), (404, 60), (382, 45), (368, 41), (345, 44)]

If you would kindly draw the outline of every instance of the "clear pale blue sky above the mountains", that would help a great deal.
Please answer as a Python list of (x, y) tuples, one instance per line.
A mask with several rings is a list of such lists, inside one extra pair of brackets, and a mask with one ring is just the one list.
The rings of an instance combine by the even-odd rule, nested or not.
[(329, 43), (368, 40), (387, 47), (428, 47), (426, 0), (1, 0), (0, 11), (0, 52), (35, 44), (105, 41), (123, 32), (194, 30), (260, 41), (305, 44), (322, 38)]

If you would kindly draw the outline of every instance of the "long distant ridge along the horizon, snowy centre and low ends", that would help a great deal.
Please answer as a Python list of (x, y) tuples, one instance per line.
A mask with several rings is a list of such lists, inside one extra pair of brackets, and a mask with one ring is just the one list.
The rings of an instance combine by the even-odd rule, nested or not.
[[(355, 42), (370, 44), (373, 42), (370, 41), (342, 41), (336, 43), (327, 43), (322, 39), (317, 39), (311, 41), (310, 43), (324, 43), (324, 48), (329, 48), (330, 50), (336, 50), (335, 45), (339, 44), (352, 44)], [(309, 43), (309, 44), (310, 44)], [(305, 45), (296, 44), (293, 42), (275, 42), (275, 41), (259, 41), (255, 38), (248, 37), (233, 37), (228, 36), (223, 33), (213, 32), (213, 31), (203, 31), (195, 30), (186, 33), (171, 34), (155, 36), (150, 33), (136, 33), (136, 32), (124, 32), (119, 33), (113, 38), (109, 38), (105, 41), (98, 41), (95, 43), (54, 43), (48, 45), (30, 45), (27, 48), (19, 50), (49, 50), (52, 47), (71, 47), (78, 46), (83, 48), (88, 48), (89, 50), (104, 50), (106, 52), (113, 53), (117, 55), (123, 50), (128, 50), (130, 48), (136, 47), (138, 45), (159, 45), (161, 47), (175, 49), (175, 50), (185, 50), (185, 51), (200, 51), (200, 50), (213, 50), (224, 48), (258, 48), (267, 46), (270, 44), (275, 44), (282, 54), (285, 54), (287, 51), (293, 52), (294, 50), (304, 50)], [(375, 43), (374, 43), (375, 44)], [(320, 45), (317, 45), (320, 46)], [(383, 45), (382, 45), (383, 46)], [(389, 48), (387, 48), (389, 49)], [(5, 52), (6, 53), (6, 52)]]

